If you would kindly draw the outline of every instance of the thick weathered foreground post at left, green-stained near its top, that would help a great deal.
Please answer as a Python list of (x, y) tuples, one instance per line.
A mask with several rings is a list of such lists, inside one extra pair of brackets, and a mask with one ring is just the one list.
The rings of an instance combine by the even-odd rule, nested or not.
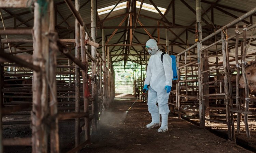
[[(47, 0), (47, 2), (51, 2), (51, 0)], [(41, 71), (33, 71), (32, 153), (47, 153), (48, 148), (47, 125), (44, 122), (48, 116), (48, 86), (45, 73), (45, 61), (48, 60), (49, 54), (49, 38), (45, 36), (45, 33), (49, 32), (50, 24), (48, 8), (49, 5), (47, 13), (42, 15), (40, 5), (38, 2), (34, 3), (33, 65), (40, 66)]]

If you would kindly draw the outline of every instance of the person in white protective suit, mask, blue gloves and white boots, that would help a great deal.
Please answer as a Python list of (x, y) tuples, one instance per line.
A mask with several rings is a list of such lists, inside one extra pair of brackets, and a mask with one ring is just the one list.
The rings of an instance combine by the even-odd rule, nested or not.
[[(172, 87), (172, 59), (168, 54), (163, 54), (161, 62), (161, 54), (158, 49), (156, 40), (150, 39), (146, 43), (148, 53), (151, 55), (148, 60), (146, 79), (143, 90), (148, 90), (148, 112), (151, 114), (152, 122), (146, 125), (146, 128), (152, 129), (157, 126), (161, 127), (158, 132), (168, 131), (168, 114), (170, 112), (168, 107), (168, 99)], [(148, 85), (150, 87), (148, 89)], [(158, 103), (158, 107), (157, 104)], [(160, 114), (162, 122), (160, 122)]]

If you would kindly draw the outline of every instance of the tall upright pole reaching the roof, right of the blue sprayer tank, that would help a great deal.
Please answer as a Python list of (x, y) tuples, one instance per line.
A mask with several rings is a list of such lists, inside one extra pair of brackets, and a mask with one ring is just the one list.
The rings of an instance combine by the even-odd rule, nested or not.
[[(196, 0), (196, 18), (197, 18), (197, 27), (198, 27), (198, 42), (197, 42), (197, 64), (198, 64), (198, 101), (199, 101), (199, 118), (200, 118), (200, 128), (205, 127), (204, 123), (204, 104), (202, 96), (202, 82), (201, 82), (201, 52), (202, 49), (202, 23), (201, 23), (201, 0)], [(187, 49), (188, 50), (188, 49)]]

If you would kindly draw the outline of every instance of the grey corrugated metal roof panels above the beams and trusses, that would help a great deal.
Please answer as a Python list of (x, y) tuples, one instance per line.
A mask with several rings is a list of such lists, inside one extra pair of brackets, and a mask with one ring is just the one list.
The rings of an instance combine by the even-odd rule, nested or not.
[[(121, 2), (125, 2), (126, 0), (122, 0)], [(163, 8), (167, 8), (170, 5), (169, 0), (153, 0), (154, 3), (159, 6), (159, 7), (163, 7)], [(196, 7), (196, 3), (195, 0), (184, 0), (187, 4), (189, 4), (191, 6), (191, 8), (193, 8), (194, 10)], [(59, 2), (64, 2), (63, 0), (55, 0), (55, 3), (59, 3)], [(81, 1), (81, 5), (83, 5), (85, 2), (87, 1)], [(118, 0), (98, 0), (97, 5), (98, 8), (103, 8), (106, 6), (110, 6), (110, 5), (115, 5), (118, 2)], [(207, 0), (207, 2), (209, 3), (214, 3), (215, 0)], [(149, 0), (144, 0), (144, 3), (147, 4), (151, 4)], [(205, 3), (202, 2), (201, 5), (203, 7), (204, 10), (207, 10), (209, 7), (211, 7), (211, 4), (209, 3)], [(232, 11), (228, 8), (224, 8), (222, 6), (227, 6), (227, 7), (232, 7), (241, 11), (250, 11), (252, 8), (254, 8), (256, 6), (256, 1), (255, 0), (244, 0), (244, 1), (237, 1), (237, 0), (221, 0), (216, 4), (217, 7), (222, 8), (223, 10), (235, 15), (235, 16), (241, 16), (243, 13), (239, 12), (239, 11)], [(62, 3), (60, 5), (57, 6), (58, 12), (57, 13), (57, 24), (59, 24), (63, 18), (67, 18), (70, 14), (71, 11), (69, 10), (69, 8), (67, 7), (67, 4)], [(18, 9), (7, 9), (11, 14), (20, 14), (23, 12), (28, 12), (29, 8), (18, 8)], [(137, 13), (139, 12), (139, 8), (136, 8)], [(118, 26), (118, 24), (123, 20), (123, 18), (125, 17), (125, 14), (129, 12), (129, 7), (122, 9), (122, 10), (118, 10), (118, 11), (113, 11), (109, 16), (108, 19), (105, 20), (104, 22), (104, 26)], [(202, 10), (202, 13), (204, 11)], [(8, 17), (10, 16), (10, 14), (6, 13), (5, 11), (2, 10), (3, 13), (3, 17)], [(88, 27), (90, 27), (90, 21), (91, 21), (91, 14), (90, 14), (90, 2), (88, 2), (85, 6), (83, 6), (80, 9), (80, 14), (84, 20), (84, 22), (88, 25)], [(161, 20), (163, 22), (165, 22), (165, 20), (162, 19), (162, 17), (158, 14), (158, 13), (154, 13), (154, 12), (149, 12), (146, 10), (141, 10), (141, 16), (139, 17), (139, 20), (142, 22), (142, 24), (144, 26), (157, 26), (157, 20)], [(100, 20), (104, 19), (105, 16), (107, 14), (103, 14), (103, 15), (99, 15)], [(120, 16), (123, 15), (123, 16)], [(207, 12), (208, 17), (211, 17), (211, 10)], [(168, 19), (169, 22), (172, 22), (172, 7), (170, 7), (168, 13), (165, 15), (166, 18)], [(20, 15), (18, 16), (19, 21), (17, 21), (17, 24), (20, 24), (21, 22), (24, 22), (30, 18), (33, 17), (33, 13), (27, 13), (25, 15)], [(208, 17), (206, 15), (203, 15), (203, 18), (210, 23), (210, 20), (208, 19)], [(151, 18), (151, 19), (150, 19)], [(216, 25), (221, 25), (224, 26), (225, 24), (233, 21), (235, 18), (231, 17), (219, 10), (217, 10), (216, 8), (214, 8), (214, 24)], [(179, 0), (175, 0), (175, 24), (176, 25), (183, 25), (183, 26), (194, 26), (196, 21), (196, 15), (187, 8), (187, 6), (185, 6), (181, 1)], [(249, 18), (246, 19), (246, 21), (250, 21)], [(253, 16), (253, 21), (256, 21), (256, 17)], [(6, 19), (4, 20), (6, 27), (11, 28), (13, 27), (14, 21), (13, 18), (10, 19)], [(67, 22), (67, 23), (66, 23)], [(66, 35), (61, 35), (62, 38), (74, 38), (74, 33), (72, 32), (72, 28), (74, 27), (74, 22), (75, 22), (75, 18), (73, 17), (73, 15), (66, 20), (66, 22), (61, 23), (59, 26), (61, 27), (67, 27), (67, 29), (63, 29), (63, 30), (57, 30), (57, 32), (59, 33), (66, 33)], [(127, 22), (128, 22), (128, 18), (126, 19), (126, 21), (123, 23), (122, 26), (127, 26)], [(28, 27), (32, 27), (33, 26), (33, 20), (28, 21), (27, 23)], [(69, 28), (68, 24), (70, 25), (71, 28)], [(167, 25), (167, 23), (165, 23)], [(245, 23), (240, 22), (238, 23), (239, 25), (243, 25)], [(140, 25), (138, 23), (138, 25)], [(205, 23), (202, 21), (202, 25), (205, 25)], [(27, 27), (26, 25), (22, 24), (20, 27)], [(162, 24), (160, 24), (160, 26), (162, 26)], [(2, 23), (0, 23), (0, 28), (2, 28)], [(90, 30), (90, 29), (89, 29)], [(157, 31), (155, 31), (155, 29), (147, 29), (153, 36), (155, 39), (157, 39)], [(185, 29), (171, 29), (176, 35), (178, 35), (184, 42), (186, 42), (186, 33), (184, 32)], [(195, 31), (194, 29), (190, 29), (191, 31)], [(241, 30), (241, 28), (240, 28)], [(110, 37), (110, 35), (113, 33), (114, 29), (106, 29), (105, 30), (105, 34), (107, 36), (106, 41), (108, 40), (108, 38)], [(155, 31), (155, 32), (154, 32)], [(153, 33), (154, 32), (154, 33)], [(120, 37), (123, 35), (124, 37), (120, 40), (121, 43), (119, 44), (123, 44), (125, 36), (126, 36), (126, 29), (118, 29), (117, 33), (113, 36), (113, 38), (110, 40), (109, 44), (116, 44), (117, 41), (120, 39)], [(206, 30), (203, 30), (203, 33), (208, 34), (206, 32)], [(248, 35), (251, 35), (252, 31), (248, 31)], [(234, 34), (234, 28), (230, 28), (228, 30), (228, 35), (233, 35)], [(133, 43), (142, 43), (144, 44), (148, 39), (149, 36), (146, 34), (146, 32), (144, 31), (144, 29), (136, 29), (136, 32), (134, 34), (134, 36), (136, 38), (133, 38)], [(3, 35), (1, 36), (2, 38), (5, 38)], [(100, 41), (102, 38), (102, 32), (101, 29), (97, 29), (97, 42)], [(193, 33), (191, 33), (190, 31), (188, 31), (188, 43), (189, 44), (194, 44), (194, 39), (195, 36)], [(20, 39), (32, 39), (31, 36), (28, 35), (10, 35), (9, 36), (10, 39), (13, 38), (20, 38)], [(165, 29), (160, 29), (160, 42), (161, 44), (165, 44)], [(219, 35), (218, 35), (218, 39), (219, 39)], [(174, 34), (172, 34), (169, 31), (169, 40), (170, 43), (172, 41), (175, 41), (176, 43), (183, 43), (180, 39), (177, 39), (176, 36)], [(129, 30), (128, 30), (128, 43), (129, 43)], [(254, 45), (255, 43), (252, 42), (252, 44)], [(15, 44), (14, 44), (15, 45)], [(28, 46), (28, 44), (24, 44), (26, 46)], [(31, 45), (31, 44), (29, 44)], [(7, 46), (5, 46), (7, 47)], [(142, 47), (141, 46), (133, 46), (135, 50), (137, 51), (142, 51)], [(182, 45), (181, 47), (179, 46), (173, 46), (173, 51), (175, 53), (179, 53), (181, 51), (183, 51), (185, 45)], [(26, 47), (25, 47), (26, 48)], [(111, 47), (113, 48), (113, 47)], [(116, 47), (115, 49), (120, 48), (120, 51), (123, 49), (123, 47)], [(162, 47), (159, 47), (162, 49)], [(221, 49), (221, 46), (218, 45), (217, 46), (218, 50)], [(17, 49), (18, 50), (18, 49)], [(210, 48), (211, 51), (215, 51), (216, 48), (215, 46)], [(5, 50), (6, 52), (8, 51), (8, 49)], [(119, 51), (119, 52), (120, 52)], [(99, 49), (99, 52), (101, 52), (101, 48)], [(248, 50), (247, 54), (251, 54), (251, 53), (255, 53), (256, 52), (256, 47), (255, 46), (251, 46)], [(133, 51), (133, 48), (131, 49), (132, 54), (136, 54), (135, 51)], [(234, 53), (234, 49), (231, 49), (231, 53)], [(132, 57), (130, 57), (132, 58)], [(136, 58), (137, 59), (137, 58)], [(220, 58), (221, 59), (221, 58)], [(210, 58), (209, 60), (212, 60), (211, 62), (215, 62), (215, 58)]]

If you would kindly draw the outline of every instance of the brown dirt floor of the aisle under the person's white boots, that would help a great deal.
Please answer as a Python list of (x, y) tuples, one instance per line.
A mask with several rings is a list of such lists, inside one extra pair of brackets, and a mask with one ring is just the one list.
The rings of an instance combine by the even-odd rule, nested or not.
[[(146, 103), (136, 102), (130, 111), (126, 110), (136, 100), (120, 97), (111, 104), (111, 109), (101, 115), (98, 131), (91, 137), (91, 145), (81, 153), (198, 153), (198, 152), (250, 152), (231, 141), (222, 139), (198, 126), (169, 115), (166, 133), (158, 133), (157, 128), (147, 129), (151, 122)], [(65, 153), (74, 147), (74, 122), (59, 124), (60, 150)], [(29, 125), (4, 125), (3, 137), (29, 137)], [(5, 153), (29, 153), (31, 147), (5, 147)]]

